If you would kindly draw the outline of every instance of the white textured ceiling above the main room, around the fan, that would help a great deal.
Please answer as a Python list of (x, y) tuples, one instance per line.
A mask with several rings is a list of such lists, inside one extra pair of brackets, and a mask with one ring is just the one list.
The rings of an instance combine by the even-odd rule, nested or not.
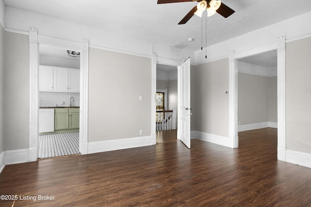
[[(207, 46), (311, 11), (311, 0), (222, 2), (235, 13), (228, 18), (219, 14), (207, 18)], [(4, 0), (4, 3), (6, 6), (121, 33), (151, 44), (172, 46), (179, 43), (176, 47), (191, 51), (201, 48), (200, 17), (193, 16), (185, 25), (177, 25), (196, 2), (157, 4), (157, 0)], [(203, 25), (205, 20), (203, 18)], [(188, 42), (189, 37), (194, 41)]]

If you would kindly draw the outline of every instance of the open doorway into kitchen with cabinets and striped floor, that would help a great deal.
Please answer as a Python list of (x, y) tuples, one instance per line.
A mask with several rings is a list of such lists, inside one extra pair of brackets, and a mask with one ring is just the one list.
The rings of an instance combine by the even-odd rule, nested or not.
[(80, 153), (79, 54), (39, 46), (39, 159)]

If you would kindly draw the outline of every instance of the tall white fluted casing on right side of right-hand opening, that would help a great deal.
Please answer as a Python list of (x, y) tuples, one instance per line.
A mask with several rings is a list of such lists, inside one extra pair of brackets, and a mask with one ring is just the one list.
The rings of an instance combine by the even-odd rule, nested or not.
[(285, 35), (277, 38), (277, 159), (286, 161)]

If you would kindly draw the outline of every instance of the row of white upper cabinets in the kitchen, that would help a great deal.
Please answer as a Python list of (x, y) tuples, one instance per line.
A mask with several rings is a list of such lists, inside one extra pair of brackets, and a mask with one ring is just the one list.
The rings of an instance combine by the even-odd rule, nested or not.
[(80, 70), (66, 67), (39, 66), (40, 92), (80, 92)]

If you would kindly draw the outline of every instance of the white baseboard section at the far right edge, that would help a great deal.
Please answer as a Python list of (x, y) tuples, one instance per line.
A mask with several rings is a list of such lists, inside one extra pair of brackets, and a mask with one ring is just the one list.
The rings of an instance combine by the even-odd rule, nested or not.
[(297, 152), (294, 150), (287, 149), (286, 161), (293, 164), (311, 168), (311, 154), (309, 153)]

